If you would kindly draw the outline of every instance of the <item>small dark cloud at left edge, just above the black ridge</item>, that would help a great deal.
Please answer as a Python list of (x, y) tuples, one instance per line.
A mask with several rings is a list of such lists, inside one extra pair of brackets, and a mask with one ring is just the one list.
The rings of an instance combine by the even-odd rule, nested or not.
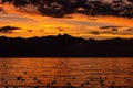
[(12, 31), (14, 31), (14, 30), (21, 30), (21, 29), (16, 28), (16, 26), (1, 26), (0, 28), (1, 33), (12, 33)]

